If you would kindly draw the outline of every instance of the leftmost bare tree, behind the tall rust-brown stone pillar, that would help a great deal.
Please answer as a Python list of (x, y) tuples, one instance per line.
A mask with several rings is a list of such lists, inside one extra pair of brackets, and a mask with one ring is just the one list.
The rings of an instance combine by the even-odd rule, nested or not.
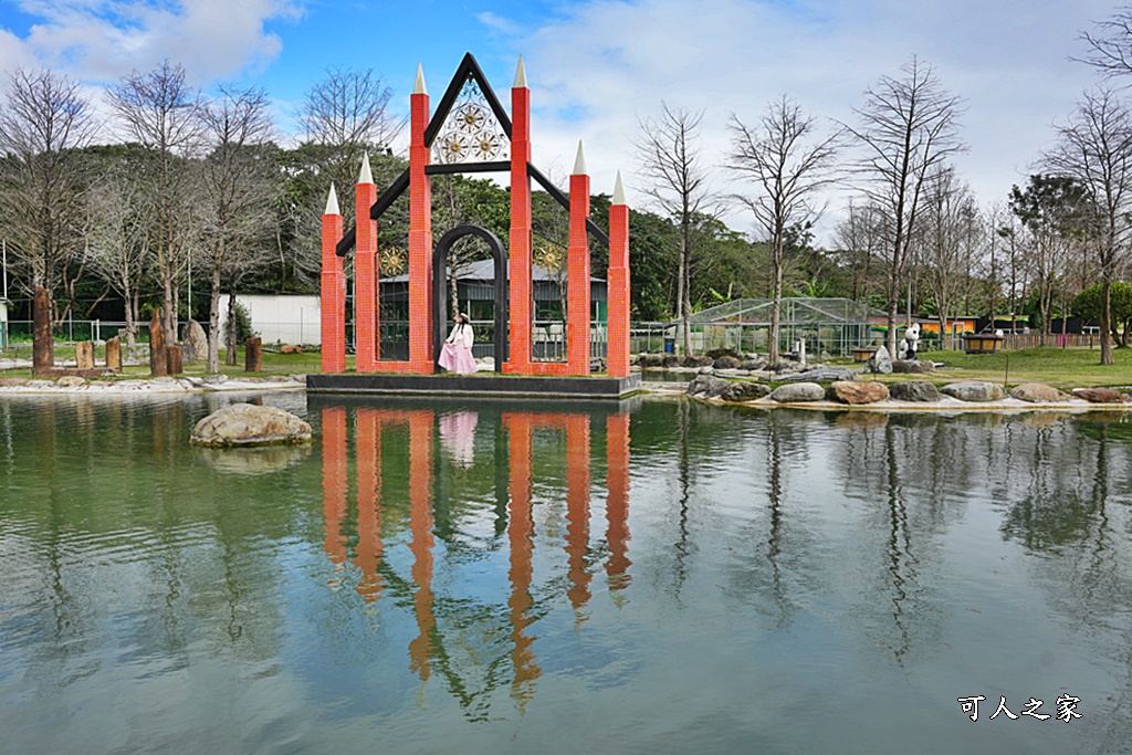
[(86, 170), (79, 151), (94, 134), (76, 81), (50, 70), (16, 68), (0, 109), (0, 218), (29, 289), (54, 297), (82, 254)]

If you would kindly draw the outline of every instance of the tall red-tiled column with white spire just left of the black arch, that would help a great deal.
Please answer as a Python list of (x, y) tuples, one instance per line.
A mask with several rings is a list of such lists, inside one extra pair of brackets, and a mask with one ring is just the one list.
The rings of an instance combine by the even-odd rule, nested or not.
[(432, 189), (424, 174), (429, 102), (420, 69), (409, 102), (409, 362), (414, 372), (432, 372)]

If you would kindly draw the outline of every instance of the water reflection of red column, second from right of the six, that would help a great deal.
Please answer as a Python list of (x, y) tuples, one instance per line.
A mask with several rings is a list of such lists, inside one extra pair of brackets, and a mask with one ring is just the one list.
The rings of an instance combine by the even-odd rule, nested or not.
[(585, 566), (590, 547), (590, 415), (571, 414), (566, 420), (566, 555), (567, 578), (573, 585), (566, 593), (575, 610), (590, 602), (590, 581)]

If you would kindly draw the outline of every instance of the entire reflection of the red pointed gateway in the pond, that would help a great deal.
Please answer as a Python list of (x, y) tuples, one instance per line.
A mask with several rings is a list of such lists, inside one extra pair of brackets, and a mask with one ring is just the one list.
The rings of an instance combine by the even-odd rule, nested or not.
[[(500, 683), (509, 686), (511, 697), (518, 710), (524, 710), (534, 695), (535, 681), (542, 675), (534, 650), (538, 606), (554, 600), (556, 593), (554, 580), (542, 585), (534, 583), (537, 477), (540, 483), (549, 482), (552, 490), (565, 498), (561, 544), (561, 561), (566, 572), (564, 590), (575, 611), (577, 628), (585, 624), (586, 607), (593, 598), (591, 585), (595, 552), (591, 548), (590, 532), (593, 466), (591, 414), (503, 411), (497, 422), (482, 423), (489, 424), (496, 435), (506, 436), (505, 446), (494, 444), (495, 448), (504, 448), (506, 453), (488, 457), (486, 463), (496, 467), (495, 479), (507, 481), (506, 489), (496, 494), (503, 494), (505, 506), (494, 507), (492, 514), (494, 534), (505, 532), (508, 542), (509, 594), (506, 611), (511, 637), (507, 651), (509, 679), (499, 679), (496, 668), (498, 651), (495, 655), (489, 651), (487, 657), (475, 659), (473, 666), (477, 668), (457, 668), (462, 664), (453, 662), (449, 646), (463, 644), (464, 630), (478, 619), (461, 616), (468, 606), (460, 599), (438, 595), (435, 591), (437, 537), (444, 538), (445, 550), (451, 558), (449, 549), (458, 550), (463, 535), (453, 520), (465, 513), (460, 509), (466, 507), (466, 499), (472, 492), (453, 488), (447, 491), (451, 494), (448, 499), (439, 505), (437, 490), (452, 487), (452, 480), (447, 479), (452, 477), (452, 470), (441, 482), (444, 475), (438, 473), (438, 466), (451, 463), (456, 470), (466, 472), (474, 465), (477, 428), (481, 426), (479, 413), (469, 410), (438, 412), (432, 409), (355, 407), (352, 411), (355, 500), (350, 499), (349, 484), (350, 414), (351, 411), (341, 405), (321, 407), (324, 550), (334, 567), (329, 586), (340, 589), (346, 564), (352, 564), (360, 572), (355, 591), (365, 604), (372, 604), (381, 598), (386, 582), (383, 575), (388, 575), (388, 582), (397, 585), (402, 595), (411, 593), (417, 634), (408, 643), (408, 668), (422, 684), (439, 670), (446, 685), (457, 692), (473, 719), (486, 714), (484, 700)], [(406, 430), (408, 443), (404, 438)], [(618, 593), (629, 585), (632, 566), (628, 557), (629, 414), (609, 414), (603, 430), (607, 487), (603, 567), (610, 593)], [(396, 451), (386, 448), (386, 443), (408, 448), (405, 480), (385, 479), (384, 460), (396, 457)], [(555, 472), (551, 470), (557, 460), (564, 463), (560, 470), (564, 479), (558, 481), (559, 484), (555, 484)], [(391, 467), (389, 472), (396, 475), (395, 469)], [(477, 480), (465, 479), (464, 482), (474, 488)], [(396, 564), (385, 563), (383, 543), (385, 512), (387, 505), (397, 506), (397, 496), (408, 496), (408, 550), (412, 558), (408, 583), (397, 573)], [(542, 497), (546, 498), (546, 494)], [(546, 504), (554, 507), (552, 497)], [(351, 521), (354, 522), (354, 532), (349, 531)], [(392, 532), (389, 537), (396, 539), (401, 533)], [(352, 548), (351, 542), (355, 543)], [(455, 614), (440, 616), (444, 620), (438, 620), (438, 614), (449, 609)], [(482, 604), (475, 608), (477, 612), (491, 610)], [(447, 636), (446, 623), (451, 623), (457, 636)], [(480, 678), (471, 679), (469, 675)], [(477, 694), (469, 693), (475, 686), (483, 686), (483, 689)]]

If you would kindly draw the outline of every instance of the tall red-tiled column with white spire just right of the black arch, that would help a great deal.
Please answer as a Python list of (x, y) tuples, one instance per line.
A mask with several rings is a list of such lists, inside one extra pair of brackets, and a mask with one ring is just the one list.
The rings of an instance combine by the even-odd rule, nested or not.
[(509, 276), (509, 359), (504, 371), (525, 375), (531, 366), (531, 328), (534, 300), (531, 291), (531, 91), (526, 86), (523, 59), (518, 59), (515, 86), (511, 89), (511, 243)]

